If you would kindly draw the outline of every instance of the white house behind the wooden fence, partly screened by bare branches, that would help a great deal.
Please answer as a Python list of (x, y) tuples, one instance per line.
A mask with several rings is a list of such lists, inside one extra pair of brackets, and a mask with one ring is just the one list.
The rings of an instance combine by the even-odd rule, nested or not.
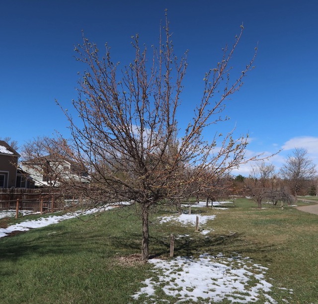
[(22, 161), (21, 168), (30, 174), (38, 187), (89, 182), (86, 168), (59, 154)]

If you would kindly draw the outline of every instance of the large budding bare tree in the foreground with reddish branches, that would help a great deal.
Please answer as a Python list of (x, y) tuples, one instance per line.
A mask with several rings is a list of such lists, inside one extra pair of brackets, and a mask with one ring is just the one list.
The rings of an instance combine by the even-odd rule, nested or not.
[(221, 61), (205, 74), (202, 98), (185, 130), (179, 129), (177, 114), (186, 54), (180, 60), (175, 56), (167, 18), (150, 60), (137, 35), (132, 37), (134, 59), (120, 72), (107, 45), (104, 56), (85, 37), (75, 48), (77, 60), (87, 70), (79, 81), (79, 98), (73, 101), (75, 118), (65, 110), (72, 132), (72, 158), (90, 168), (94, 190), (86, 195), (97, 193), (97, 201), (127, 200), (139, 206), (143, 261), (149, 257), (152, 208), (167, 200), (178, 202), (203, 176), (216, 180), (248, 161), (245, 136), (234, 139), (233, 131), (222, 136), (215, 130), (212, 140), (203, 138), (204, 129), (228, 120), (222, 116), (226, 102), (253, 68), (256, 49), (239, 76), (230, 79), (230, 60), (242, 31), (243, 27), (233, 46), (223, 50)]

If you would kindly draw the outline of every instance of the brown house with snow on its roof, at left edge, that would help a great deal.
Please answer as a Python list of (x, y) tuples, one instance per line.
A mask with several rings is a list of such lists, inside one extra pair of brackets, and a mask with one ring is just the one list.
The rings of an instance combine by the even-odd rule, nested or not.
[(0, 141), (0, 188), (34, 188), (30, 176), (18, 168), (20, 154)]

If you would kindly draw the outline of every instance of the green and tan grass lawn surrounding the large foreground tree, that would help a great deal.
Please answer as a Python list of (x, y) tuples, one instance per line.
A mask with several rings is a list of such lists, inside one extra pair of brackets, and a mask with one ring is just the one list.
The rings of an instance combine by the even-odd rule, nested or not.
[[(192, 226), (159, 224), (158, 217), (175, 210), (157, 210), (151, 217), (151, 255), (168, 258), (170, 233), (188, 234), (176, 240), (175, 256), (206, 252), (248, 256), (268, 267), (266, 279), (274, 285), (271, 297), (278, 303), (283, 303), (281, 299), (318, 303), (318, 216), (269, 204), (258, 210), (247, 199), (228, 207), (192, 208), (194, 214), (216, 215), (207, 222), (206, 228), (213, 229), (207, 235), (195, 232)], [(133, 301), (131, 295), (151, 276), (152, 266), (136, 261), (141, 223), (134, 208), (89, 219), (67, 220), (0, 238), (0, 303), (142, 303)], [(294, 292), (284, 294), (280, 288)], [(177, 302), (162, 295), (163, 299)]]

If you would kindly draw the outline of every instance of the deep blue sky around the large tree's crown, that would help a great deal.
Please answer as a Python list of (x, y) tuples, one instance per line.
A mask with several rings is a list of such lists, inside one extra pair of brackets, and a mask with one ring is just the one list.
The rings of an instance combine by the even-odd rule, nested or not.
[[(318, 2), (316, 0), (4, 0), (0, 3), (0, 137), (22, 146), (55, 130), (68, 136), (55, 104), (71, 109), (77, 98), (74, 45), (81, 30), (99, 48), (111, 46), (114, 62), (132, 60), (131, 36), (149, 47), (158, 42), (159, 22), (168, 9), (175, 53), (188, 53), (180, 121), (200, 98), (203, 76), (244, 34), (232, 65), (241, 71), (258, 46), (255, 69), (232, 97), (226, 124), (249, 133), (246, 155), (284, 149), (270, 161), (277, 168), (295, 147), (318, 163)], [(181, 111), (182, 112), (182, 111)], [(239, 173), (248, 175), (248, 167)]]

